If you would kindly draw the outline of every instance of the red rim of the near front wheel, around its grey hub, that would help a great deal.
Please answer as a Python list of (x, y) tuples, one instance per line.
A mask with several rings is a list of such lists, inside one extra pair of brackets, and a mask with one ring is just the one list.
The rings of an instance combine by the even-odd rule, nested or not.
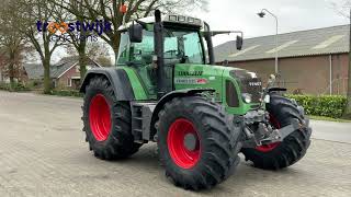
[[(185, 136), (188, 135), (192, 135), (195, 139), (193, 150), (185, 147)], [(190, 120), (179, 118), (172, 123), (167, 136), (167, 146), (173, 162), (178, 166), (191, 169), (199, 162), (201, 155), (199, 134)]]

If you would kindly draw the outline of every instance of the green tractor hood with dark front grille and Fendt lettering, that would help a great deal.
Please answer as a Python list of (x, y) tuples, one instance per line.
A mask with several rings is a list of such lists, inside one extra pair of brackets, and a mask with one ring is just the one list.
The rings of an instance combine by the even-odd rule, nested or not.
[(228, 104), (228, 107), (245, 105), (242, 95), (249, 95), (249, 105), (261, 101), (262, 82), (254, 72), (245, 69), (213, 66), (178, 63), (174, 68), (176, 90), (214, 89), (216, 101)]

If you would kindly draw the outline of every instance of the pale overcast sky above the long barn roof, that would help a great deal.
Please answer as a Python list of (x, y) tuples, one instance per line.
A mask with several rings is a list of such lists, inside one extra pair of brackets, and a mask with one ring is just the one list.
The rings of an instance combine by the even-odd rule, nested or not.
[[(238, 30), (245, 37), (275, 34), (275, 20), (271, 15), (263, 19), (257, 15), (268, 9), (278, 16), (279, 33), (320, 28), (348, 24), (332, 3), (341, 4), (344, 0), (208, 0), (208, 11), (196, 11), (194, 15), (206, 21), (212, 30)], [(231, 35), (214, 38), (218, 45), (234, 39)]]

